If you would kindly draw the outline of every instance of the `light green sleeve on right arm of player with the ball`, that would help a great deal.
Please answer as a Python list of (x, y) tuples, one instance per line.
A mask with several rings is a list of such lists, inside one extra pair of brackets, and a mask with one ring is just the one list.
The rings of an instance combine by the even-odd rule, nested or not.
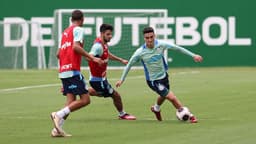
[(177, 50), (177, 51), (179, 51), (179, 52), (181, 52), (181, 53), (183, 53), (185, 55), (191, 56), (191, 57), (195, 56), (195, 54), (193, 52), (191, 52), (191, 51), (189, 51), (189, 50), (187, 50), (187, 49), (185, 49), (185, 48), (183, 48), (181, 46), (178, 46), (178, 45), (176, 45), (174, 43), (167, 43), (165, 41), (159, 41), (159, 42), (166, 49)]

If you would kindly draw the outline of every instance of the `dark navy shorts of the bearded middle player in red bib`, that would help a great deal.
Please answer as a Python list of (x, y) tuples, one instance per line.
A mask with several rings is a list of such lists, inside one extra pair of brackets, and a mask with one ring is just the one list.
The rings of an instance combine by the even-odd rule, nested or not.
[(101, 96), (112, 97), (114, 89), (108, 83), (108, 80), (103, 81), (90, 81), (91, 87)]

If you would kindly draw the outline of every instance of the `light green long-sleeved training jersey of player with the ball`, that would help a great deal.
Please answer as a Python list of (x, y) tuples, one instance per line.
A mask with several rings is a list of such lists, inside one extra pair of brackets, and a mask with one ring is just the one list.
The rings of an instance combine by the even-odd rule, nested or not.
[(166, 71), (168, 70), (168, 66), (164, 59), (164, 50), (166, 49), (178, 50), (179, 52), (191, 57), (195, 55), (189, 50), (173, 43), (155, 40), (154, 48), (148, 48), (146, 44), (144, 44), (134, 52), (123, 71), (121, 80), (125, 80), (125, 77), (127, 76), (132, 65), (139, 61), (141, 61), (144, 67), (146, 80), (154, 81), (163, 79), (166, 76)]

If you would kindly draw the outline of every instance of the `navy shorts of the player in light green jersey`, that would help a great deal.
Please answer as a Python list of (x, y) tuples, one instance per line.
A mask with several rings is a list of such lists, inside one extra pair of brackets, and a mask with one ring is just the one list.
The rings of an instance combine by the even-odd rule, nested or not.
[(169, 93), (170, 85), (168, 74), (163, 79), (147, 81), (148, 86), (162, 97), (165, 97)]

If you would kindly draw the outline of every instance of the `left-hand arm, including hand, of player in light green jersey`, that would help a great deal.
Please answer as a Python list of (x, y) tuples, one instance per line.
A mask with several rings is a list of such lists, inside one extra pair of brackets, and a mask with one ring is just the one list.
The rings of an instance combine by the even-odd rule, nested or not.
[(128, 72), (130, 71), (131, 67), (140, 60), (140, 49), (138, 49), (130, 58), (128, 64), (126, 65), (125, 69), (123, 70), (123, 74), (121, 79), (116, 82), (116, 87), (120, 87), (124, 82)]

